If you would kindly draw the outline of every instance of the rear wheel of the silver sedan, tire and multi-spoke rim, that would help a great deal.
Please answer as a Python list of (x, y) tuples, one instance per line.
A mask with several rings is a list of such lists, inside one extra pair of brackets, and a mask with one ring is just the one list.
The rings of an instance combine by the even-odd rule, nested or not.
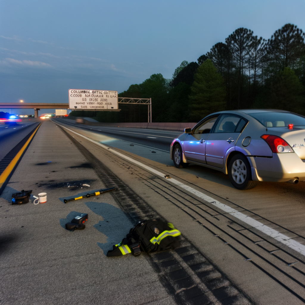
[(246, 156), (239, 153), (232, 157), (228, 166), (228, 175), (232, 185), (239, 190), (254, 188), (257, 181), (251, 181), (251, 167)]

